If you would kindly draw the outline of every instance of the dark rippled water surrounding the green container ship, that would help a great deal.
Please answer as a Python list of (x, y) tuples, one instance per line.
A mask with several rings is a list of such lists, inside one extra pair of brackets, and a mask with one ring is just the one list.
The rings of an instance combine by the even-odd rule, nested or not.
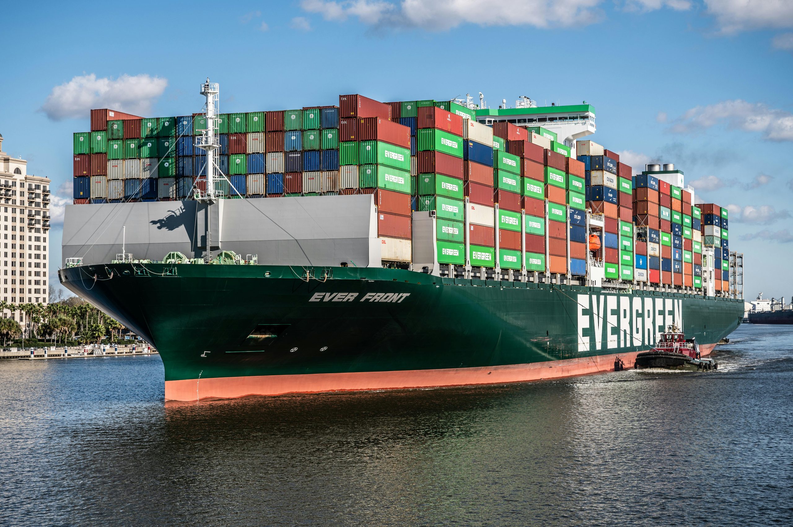
[(163, 404), (159, 357), (0, 361), (0, 525), (791, 525), (793, 327), (718, 372)]

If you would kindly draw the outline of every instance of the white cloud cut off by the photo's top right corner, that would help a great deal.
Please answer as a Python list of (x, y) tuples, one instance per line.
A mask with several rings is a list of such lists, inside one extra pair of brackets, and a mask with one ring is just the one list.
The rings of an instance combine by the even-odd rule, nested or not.
[(790, 0), (705, 0), (705, 4), (724, 34), (793, 27)]

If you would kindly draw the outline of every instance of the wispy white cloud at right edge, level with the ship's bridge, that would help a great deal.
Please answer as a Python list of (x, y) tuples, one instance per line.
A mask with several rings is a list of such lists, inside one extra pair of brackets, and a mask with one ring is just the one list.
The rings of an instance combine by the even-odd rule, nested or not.
[(762, 132), (764, 139), (771, 141), (793, 141), (793, 114), (760, 102), (736, 99), (696, 106), (673, 122), (671, 130), (677, 133), (695, 132), (726, 122), (730, 128)]

